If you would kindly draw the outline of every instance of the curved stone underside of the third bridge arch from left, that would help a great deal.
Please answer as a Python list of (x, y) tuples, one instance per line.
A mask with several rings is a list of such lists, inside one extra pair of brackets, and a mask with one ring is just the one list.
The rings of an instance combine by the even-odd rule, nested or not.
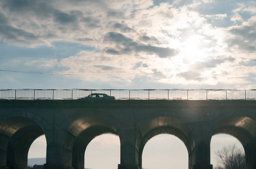
[(195, 146), (192, 132), (186, 124), (174, 117), (157, 117), (151, 119), (142, 128), (136, 137), (136, 149), (138, 150), (138, 165), (142, 168), (142, 153), (145, 144), (152, 137), (160, 134), (171, 134), (178, 137), (185, 144), (189, 155), (189, 166), (192, 163), (192, 149)]

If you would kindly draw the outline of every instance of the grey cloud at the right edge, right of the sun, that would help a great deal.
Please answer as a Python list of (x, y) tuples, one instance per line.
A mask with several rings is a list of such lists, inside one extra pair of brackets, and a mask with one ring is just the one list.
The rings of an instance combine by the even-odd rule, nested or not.
[(229, 30), (232, 34), (236, 35), (235, 38), (230, 38), (227, 40), (229, 47), (235, 45), (239, 46), (240, 49), (249, 52), (256, 51), (256, 24), (247, 26), (240, 26), (239, 28), (232, 28)]

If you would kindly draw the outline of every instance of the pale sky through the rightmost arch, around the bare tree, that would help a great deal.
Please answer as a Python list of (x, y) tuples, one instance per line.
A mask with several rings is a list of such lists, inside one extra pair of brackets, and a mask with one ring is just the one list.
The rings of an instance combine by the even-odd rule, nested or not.
[[(229, 149), (233, 149), (233, 146), (235, 146), (235, 152), (236, 154), (239, 150), (241, 150), (242, 154), (245, 154), (244, 147), (240, 143), (236, 137), (233, 137), (229, 134), (216, 134), (213, 137), (211, 137), (211, 164), (213, 164), (213, 168), (217, 168), (218, 166), (224, 167), (221, 162), (218, 161), (218, 151), (220, 153), (223, 153), (224, 149), (228, 149), (228, 155), (231, 155), (232, 152), (229, 151)], [(224, 154), (223, 154), (224, 155)]]

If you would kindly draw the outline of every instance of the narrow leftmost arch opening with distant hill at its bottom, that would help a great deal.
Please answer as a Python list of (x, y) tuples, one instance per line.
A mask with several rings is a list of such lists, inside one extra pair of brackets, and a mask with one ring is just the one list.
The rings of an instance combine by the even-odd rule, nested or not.
[(28, 167), (46, 163), (46, 138), (45, 135), (39, 136), (29, 148)]

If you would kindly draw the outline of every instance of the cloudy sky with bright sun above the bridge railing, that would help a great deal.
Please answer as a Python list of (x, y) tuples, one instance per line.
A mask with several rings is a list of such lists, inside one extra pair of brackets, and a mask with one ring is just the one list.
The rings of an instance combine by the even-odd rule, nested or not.
[(256, 88), (255, 39), (253, 0), (0, 0), (0, 88)]

